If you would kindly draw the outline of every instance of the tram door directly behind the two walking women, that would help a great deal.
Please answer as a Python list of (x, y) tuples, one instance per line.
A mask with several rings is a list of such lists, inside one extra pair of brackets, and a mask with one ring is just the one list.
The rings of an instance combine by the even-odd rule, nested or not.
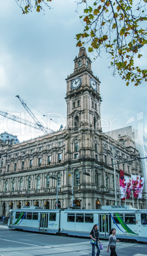
[(112, 218), (109, 214), (99, 214), (99, 237), (108, 238), (112, 228)]

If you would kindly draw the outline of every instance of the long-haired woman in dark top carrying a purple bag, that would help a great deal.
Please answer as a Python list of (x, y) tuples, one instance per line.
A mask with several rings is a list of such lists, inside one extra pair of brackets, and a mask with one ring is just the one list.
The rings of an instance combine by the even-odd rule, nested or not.
[[(98, 244), (99, 238), (98, 238), (98, 225), (97, 224), (95, 224), (93, 226), (93, 229), (91, 229), (91, 232), (90, 232), (89, 236), (91, 237), (91, 239), (96, 241), (96, 243), (92, 245), (93, 246), (93, 248), (92, 248), (92, 256), (95, 255), (95, 248), (98, 249), (98, 251), (96, 253), (96, 256), (99, 256), (100, 248), (99, 248), (99, 244)], [(99, 241), (99, 243), (101, 243), (101, 242)]]

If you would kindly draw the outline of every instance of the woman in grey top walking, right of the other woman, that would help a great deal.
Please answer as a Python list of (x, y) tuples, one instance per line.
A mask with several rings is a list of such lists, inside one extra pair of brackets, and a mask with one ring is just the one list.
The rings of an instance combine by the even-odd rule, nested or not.
[(109, 252), (109, 247), (110, 247), (110, 250), (111, 250), (110, 256), (117, 256), (115, 248), (116, 248), (116, 243), (119, 242), (119, 240), (117, 240), (115, 234), (116, 234), (116, 229), (111, 229), (110, 236), (109, 236), (108, 249), (106, 251), (106, 252)]

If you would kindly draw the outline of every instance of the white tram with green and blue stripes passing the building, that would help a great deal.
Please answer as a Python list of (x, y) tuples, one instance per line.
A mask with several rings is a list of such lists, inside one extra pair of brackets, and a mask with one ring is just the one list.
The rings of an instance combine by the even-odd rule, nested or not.
[(10, 210), (8, 227), (24, 231), (89, 237), (98, 224), (99, 238), (108, 238), (114, 227), (117, 238), (147, 242), (147, 210), (131, 206), (102, 206), (101, 210), (44, 210), (26, 206)]

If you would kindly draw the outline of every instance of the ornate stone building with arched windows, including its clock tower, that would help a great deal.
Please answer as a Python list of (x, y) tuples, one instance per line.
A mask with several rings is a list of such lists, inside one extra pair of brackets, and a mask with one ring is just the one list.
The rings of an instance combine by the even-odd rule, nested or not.
[[(55, 209), (57, 201), (58, 208), (113, 205), (112, 146), (116, 148), (118, 204), (119, 170), (127, 176), (141, 172), (139, 160), (129, 162), (139, 158), (134, 143), (128, 138), (124, 146), (101, 131), (100, 82), (84, 47), (74, 59), (74, 73), (66, 80), (66, 129), (15, 145), (0, 140), (1, 214), (25, 205)], [(144, 208), (143, 199), (139, 204)]]

